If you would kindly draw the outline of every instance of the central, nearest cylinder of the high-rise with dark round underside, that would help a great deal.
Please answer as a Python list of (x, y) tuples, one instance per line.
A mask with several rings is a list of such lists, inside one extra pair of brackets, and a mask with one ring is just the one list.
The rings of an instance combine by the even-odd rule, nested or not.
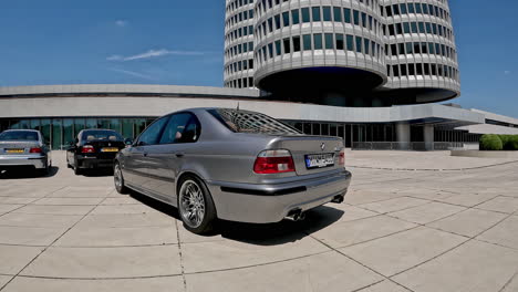
[(270, 92), (382, 85), (382, 23), (377, 0), (257, 1), (256, 85)]

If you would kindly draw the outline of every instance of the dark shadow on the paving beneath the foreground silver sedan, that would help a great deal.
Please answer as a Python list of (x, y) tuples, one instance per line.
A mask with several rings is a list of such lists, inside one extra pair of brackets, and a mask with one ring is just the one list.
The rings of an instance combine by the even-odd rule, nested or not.
[[(135, 191), (132, 191), (130, 196), (155, 210), (180, 220), (178, 210), (167, 204)], [(205, 237), (220, 234), (226, 239), (256, 246), (284, 244), (301, 240), (313, 232), (331, 226), (339, 221), (344, 211), (342, 210), (329, 206), (321, 206), (309, 210), (305, 213), (305, 220), (302, 221), (283, 220), (278, 223), (255, 225), (219, 220), (214, 232)]]

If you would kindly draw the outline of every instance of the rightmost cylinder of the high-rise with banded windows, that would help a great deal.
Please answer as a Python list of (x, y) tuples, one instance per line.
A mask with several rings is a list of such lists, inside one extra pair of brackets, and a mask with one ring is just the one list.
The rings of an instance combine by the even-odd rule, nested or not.
[(382, 0), (381, 4), (388, 72), (384, 90), (394, 102), (429, 103), (458, 96), (457, 50), (448, 1)]

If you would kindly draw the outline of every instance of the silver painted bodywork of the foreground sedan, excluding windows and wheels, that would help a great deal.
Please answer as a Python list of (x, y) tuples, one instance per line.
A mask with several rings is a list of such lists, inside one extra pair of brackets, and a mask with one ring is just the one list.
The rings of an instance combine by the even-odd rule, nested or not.
[[(127, 187), (177, 207), (177, 182), (184, 175), (196, 175), (210, 190), (219, 219), (253, 223), (278, 222), (292, 210), (343, 200), (351, 174), (339, 164), (341, 138), (235, 133), (211, 109), (180, 112), (199, 121), (196, 143), (138, 146), (137, 139), (122, 150), (116, 160)], [(253, 164), (267, 149), (288, 149), (296, 173), (256, 174)], [(322, 153), (334, 154), (334, 165), (308, 169), (304, 156)]]

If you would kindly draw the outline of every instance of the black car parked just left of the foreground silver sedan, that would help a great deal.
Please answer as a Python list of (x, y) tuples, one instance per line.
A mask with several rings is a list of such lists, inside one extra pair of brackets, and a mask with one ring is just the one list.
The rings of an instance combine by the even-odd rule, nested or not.
[(113, 168), (117, 153), (126, 145), (124, 138), (112, 129), (83, 129), (66, 149), (66, 165), (75, 175), (84, 169)]

